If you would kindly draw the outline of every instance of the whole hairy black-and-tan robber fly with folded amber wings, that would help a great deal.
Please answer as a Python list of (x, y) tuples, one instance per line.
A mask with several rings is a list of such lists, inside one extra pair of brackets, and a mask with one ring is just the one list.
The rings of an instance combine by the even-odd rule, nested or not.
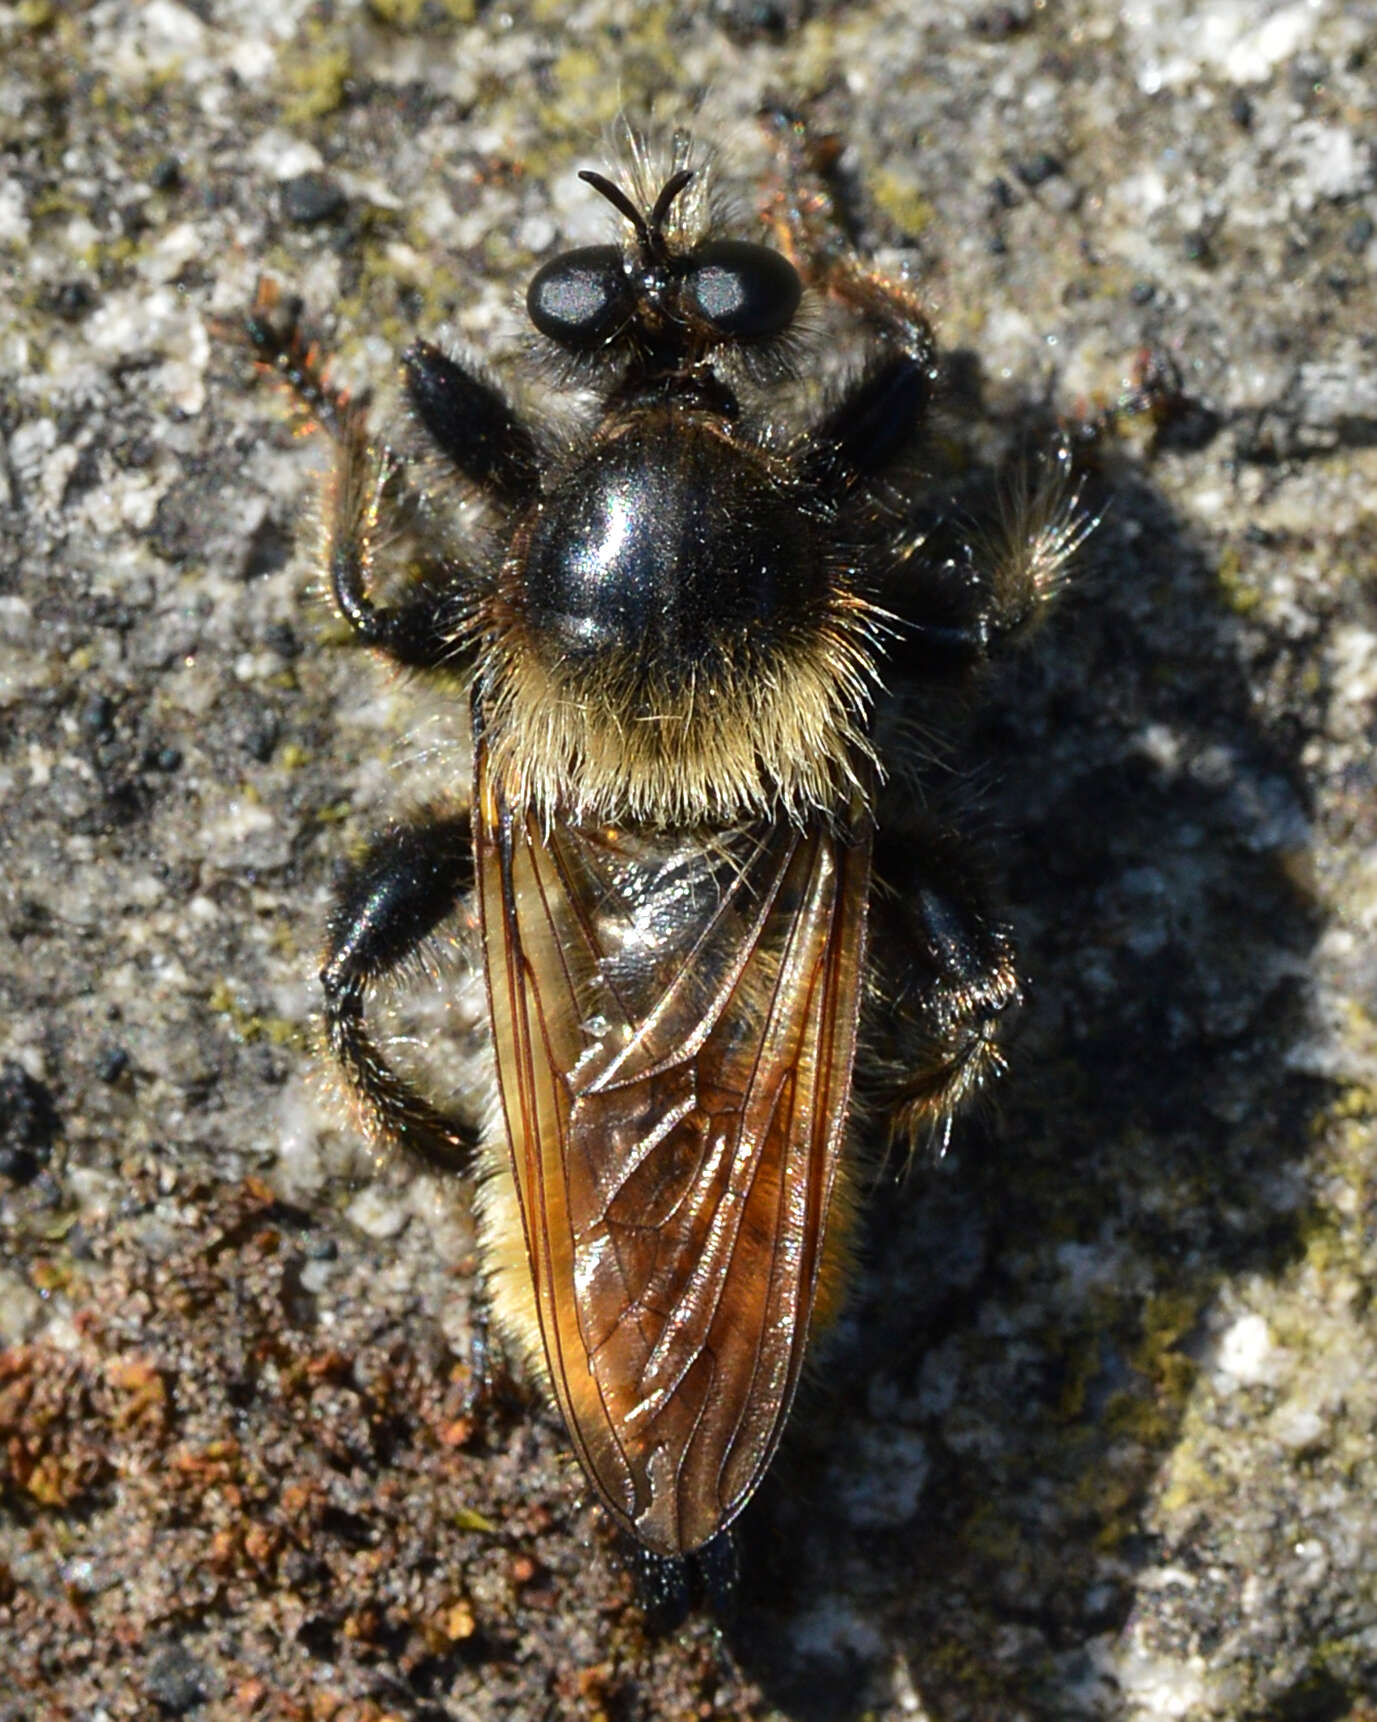
[[(928, 320), (826, 231), (809, 141), (781, 136), (757, 236), (725, 226), (682, 136), (580, 176), (616, 238), (553, 257), (525, 301), (596, 401), (575, 432), (406, 351), (420, 436), (496, 548), (446, 548), (396, 599), (392, 513), (423, 532), (453, 498), (370, 434), (272, 288), (248, 320), (337, 443), (339, 615), (472, 711), (472, 794), (375, 839), (337, 890), (330, 1052), (377, 1142), (477, 1173), (496, 1322), (609, 1517), (661, 1557), (749, 1500), (837, 1305), (857, 1059), (868, 1133), (907, 1143), (945, 1140), (998, 1068), (1007, 930), (912, 770), (892, 787), (890, 749), (909, 703), (950, 703), (1029, 620), (1083, 530), (1062, 475), (983, 553), (914, 530), (895, 498), (938, 382)], [(828, 307), (859, 367), (790, 429), (778, 401)], [(394, 1071), (367, 1011), (458, 907), (487, 976), (485, 1133)]]

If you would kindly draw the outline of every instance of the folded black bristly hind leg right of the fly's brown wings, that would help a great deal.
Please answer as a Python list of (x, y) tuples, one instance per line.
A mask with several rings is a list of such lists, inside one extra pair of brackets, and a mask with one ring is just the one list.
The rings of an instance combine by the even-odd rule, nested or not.
[(1021, 1002), (1014, 947), (947, 827), (911, 820), (874, 859), (862, 1092), (892, 1142), (942, 1152), (955, 1114), (1003, 1069), (1000, 1035)]

